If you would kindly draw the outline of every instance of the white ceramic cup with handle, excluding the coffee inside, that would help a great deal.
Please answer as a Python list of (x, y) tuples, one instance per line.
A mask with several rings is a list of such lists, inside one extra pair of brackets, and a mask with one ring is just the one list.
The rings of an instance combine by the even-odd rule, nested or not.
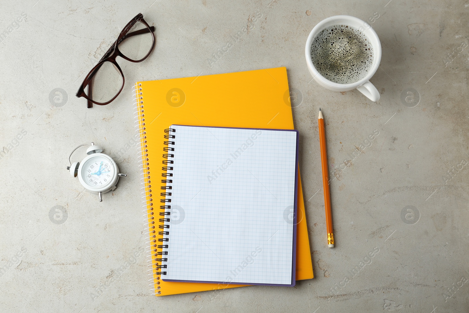
[[(313, 65), (313, 61), (311, 61), (311, 43), (313, 39), (320, 31), (333, 25), (348, 25), (355, 27), (356, 29), (362, 31), (362, 33), (370, 40), (371, 46), (373, 47), (373, 64), (371, 65), (371, 68), (362, 79), (355, 83), (338, 84), (331, 82), (319, 74), (318, 70)], [(363, 22), (359, 18), (348, 15), (336, 15), (328, 17), (314, 26), (313, 30), (310, 32), (308, 40), (306, 40), (305, 54), (308, 69), (310, 70), (314, 80), (321, 86), (335, 92), (346, 92), (349, 90), (358, 89), (359, 92), (363, 93), (371, 101), (376, 102), (379, 100), (379, 92), (376, 87), (370, 83), (370, 78), (375, 74), (376, 70), (378, 69), (379, 62), (381, 61), (381, 43), (379, 42), (378, 35), (368, 23)]]

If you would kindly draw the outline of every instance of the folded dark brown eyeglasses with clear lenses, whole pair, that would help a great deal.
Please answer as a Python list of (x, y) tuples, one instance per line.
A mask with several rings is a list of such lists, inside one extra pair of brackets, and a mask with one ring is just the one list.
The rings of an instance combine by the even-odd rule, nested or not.
[[(87, 107), (111, 103), (124, 88), (124, 74), (117, 64), (118, 56), (131, 62), (144, 61), (155, 47), (154, 26), (145, 22), (142, 13), (134, 17), (107, 50), (98, 64), (91, 69), (76, 92), (78, 98), (88, 100)], [(137, 36), (138, 35), (138, 36)], [(88, 87), (88, 92), (85, 88)]]

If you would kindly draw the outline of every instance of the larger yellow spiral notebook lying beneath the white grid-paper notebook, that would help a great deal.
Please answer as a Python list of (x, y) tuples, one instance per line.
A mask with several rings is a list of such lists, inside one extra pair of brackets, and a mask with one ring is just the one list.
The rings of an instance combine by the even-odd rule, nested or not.
[[(137, 82), (136, 128), (141, 137), (142, 194), (148, 223), (149, 277), (156, 296), (219, 290), (247, 285), (168, 282), (161, 279), (165, 259), (165, 221), (182, 212), (165, 201), (169, 182), (165, 132), (172, 124), (293, 130), (286, 68)], [(166, 141), (166, 145), (165, 145)], [(170, 197), (168, 197), (170, 198)], [(303, 190), (298, 175), (296, 280), (313, 278)], [(166, 223), (167, 224), (167, 223)]]

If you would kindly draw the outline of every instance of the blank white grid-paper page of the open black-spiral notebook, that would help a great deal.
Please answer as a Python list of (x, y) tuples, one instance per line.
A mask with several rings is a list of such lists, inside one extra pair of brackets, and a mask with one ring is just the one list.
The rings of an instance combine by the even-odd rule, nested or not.
[(297, 133), (171, 128), (162, 279), (292, 284)]

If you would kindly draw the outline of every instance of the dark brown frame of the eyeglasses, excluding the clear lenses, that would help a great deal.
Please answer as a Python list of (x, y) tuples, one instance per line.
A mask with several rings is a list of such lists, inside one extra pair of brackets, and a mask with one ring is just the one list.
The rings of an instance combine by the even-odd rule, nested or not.
[[(146, 28), (138, 30), (138, 31), (132, 31), (130, 33), (127, 33), (137, 22), (143, 23), (146, 26)], [(116, 39), (116, 41), (114, 41), (113, 45), (106, 51), (106, 53), (101, 58), (101, 60), (99, 60), (98, 64), (96, 64), (96, 66), (93, 69), (91, 69), (91, 71), (85, 77), (85, 79), (83, 80), (83, 83), (81, 84), (80, 88), (76, 92), (76, 97), (77, 98), (83, 97), (83, 98), (87, 99), (88, 100), (87, 101), (87, 107), (88, 108), (93, 107), (93, 103), (97, 104), (97, 105), (100, 105), (100, 106), (105, 106), (106, 104), (109, 104), (114, 99), (116, 99), (117, 96), (119, 96), (119, 94), (121, 93), (122, 89), (124, 88), (124, 84), (125, 84), (124, 73), (122, 73), (121, 67), (119, 66), (119, 64), (117, 64), (116, 58), (118, 56), (120, 56), (120, 57), (126, 59), (127, 61), (131, 61), (131, 62), (134, 62), (134, 63), (144, 61), (150, 55), (150, 53), (153, 51), (153, 48), (155, 47), (156, 38), (155, 38), (154, 31), (155, 31), (155, 27), (154, 26), (149, 26), (148, 23), (145, 22), (144, 15), (142, 15), (142, 13), (137, 14), (129, 23), (127, 23), (127, 25), (121, 31), (121, 34), (119, 35), (119, 37)], [(142, 59), (135, 61), (135, 60), (129, 59), (128, 57), (126, 57), (124, 54), (121, 53), (121, 51), (119, 50), (119, 44), (123, 40), (125, 40), (126, 38), (129, 38), (129, 37), (132, 37), (132, 36), (142, 35), (142, 34), (145, 34), (145, 33), (148, 33), (148, 32), (150, 32), (151, 36), (153, 37), (153, 43), (151, 44), (150, 51)], [(96, 74), (96, 72), (98, 72), (98, 69), (100, 69), (101, 66), (104, 64), (104, 62), (106, 62), (106, 61), (109, 61), (109, 62), (113, 63), (113, 65), (116, 67), (116, 69), (118, 69), (119, 72), (121, 73), (122, 86), (121, 86), (121, 90), (119, 90), (119, 92), (117, 92), (117, 94), (113, 97), (113, 99), (111, 99), (107, 102), (96, 102), (96, 101), (93, 101), (91, 99), (91, 97), (92, 97), (92, 88), (91, 88), (92, 84), (91, 84), (91, 82), (93, 81), (93, 77)], [(86, 87), (88, 87), (88, 94), (86, 94), (85, 91), (84, 91), (84, 89)]]

